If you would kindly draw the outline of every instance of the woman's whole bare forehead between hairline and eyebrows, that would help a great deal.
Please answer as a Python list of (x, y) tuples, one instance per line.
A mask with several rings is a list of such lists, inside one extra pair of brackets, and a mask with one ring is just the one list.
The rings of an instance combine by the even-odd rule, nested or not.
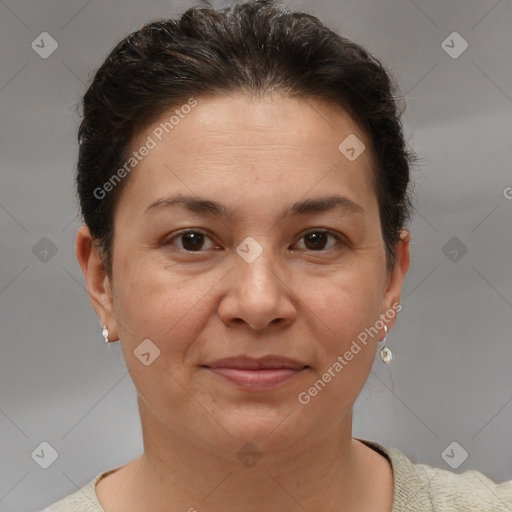
[[(297, 200), (308, 189), (336, 186), (365, 203), (373, 192), (369, 141), (341, 108), (277, 94), (194, 102), (173, 107), (134, 137), (133, 151), (151, 150), (131, 172), (120, 209), (123, 196), (135, 215), (176, 190), (242, 206), (244, 199), (268, 202), (275, 194), (274, 202), (282, 202), (289, 194)], [(346, 140), (366, 149), (351, 161), (340, 151)]]

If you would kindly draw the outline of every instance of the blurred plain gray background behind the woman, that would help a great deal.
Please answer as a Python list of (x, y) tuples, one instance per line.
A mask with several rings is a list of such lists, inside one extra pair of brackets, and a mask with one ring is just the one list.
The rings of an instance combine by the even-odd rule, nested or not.
[[(454, 471), (510, 480), (512, 3), (288, 3), (399, 76), (406, 132), (423, 158), (412, 265), (388, 336), (395, 357), (389, 367), (377, 357), (354, 436), (449, 470), (462, 449), (441, 454), (456, 441), (469, 456)], [(74, 109), (118, 40), (192, 5), (0, 1), (2, 511), (41, 510), (142, 450), (119, 343), (101, 339), (74, 255)], [(47, 59), (31, 47), (43, 31), (59, 45)], [(442, 46), (454, 31), (469, 44), (457, 58)], [(31, 456), (42, 442), (58, 453), (48, 469)]]

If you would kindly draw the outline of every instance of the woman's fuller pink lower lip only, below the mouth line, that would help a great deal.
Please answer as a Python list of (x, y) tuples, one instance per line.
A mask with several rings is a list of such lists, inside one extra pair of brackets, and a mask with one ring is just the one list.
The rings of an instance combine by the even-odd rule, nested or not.
[(275, 368), (265, 370), (238, 370), (235, 368), (206, 368), (220, 377), (251, 390), (273, 389), (284, 382), (293, 379), (306, 368), (292, 370), (291, 368)]

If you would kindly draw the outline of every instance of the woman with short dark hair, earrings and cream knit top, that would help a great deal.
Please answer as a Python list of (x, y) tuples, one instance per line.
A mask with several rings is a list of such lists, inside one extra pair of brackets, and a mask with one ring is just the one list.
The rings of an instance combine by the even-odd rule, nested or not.
[(395, 92), (262, 0), (112, 51), (83, 100), (76, 254), (144, 453), (48, 512), (512, 510), (512, 481), (352, 438), (409, 268)]

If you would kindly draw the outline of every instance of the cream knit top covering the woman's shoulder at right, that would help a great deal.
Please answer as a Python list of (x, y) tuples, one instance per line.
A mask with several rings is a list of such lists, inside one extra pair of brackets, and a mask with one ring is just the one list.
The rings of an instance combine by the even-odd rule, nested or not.
[(363, 441), (391, 462), (392, 512), (511, 512), (512, 480), (496, 483), (475, 470), (464, 473), (412, 463), (400, 450)]

